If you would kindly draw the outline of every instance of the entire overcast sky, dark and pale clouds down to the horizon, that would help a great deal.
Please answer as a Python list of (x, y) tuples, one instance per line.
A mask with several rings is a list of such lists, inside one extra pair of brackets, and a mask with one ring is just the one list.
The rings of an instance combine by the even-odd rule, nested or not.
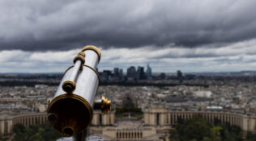
[(255, 0), (0, 0), (0, 73), (64, 72), (79, 49), (99, 69), (256, 70)]

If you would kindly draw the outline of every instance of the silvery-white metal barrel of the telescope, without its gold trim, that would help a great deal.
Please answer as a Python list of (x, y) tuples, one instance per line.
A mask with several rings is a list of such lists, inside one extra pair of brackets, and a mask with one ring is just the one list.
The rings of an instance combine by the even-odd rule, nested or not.
[[(68, 68), (54, 97), (58, 97), (59, 95), (66, 93), (62, 89), (62, 85), (65, 81), (75, 81), (75, 90), (73, 93), (83, 97), (87, 102), (89, 102), (90, 106), (93, 106), (94, 97), (99, 85), (99, 75), (96, 72), (99, 56), (92, 50), (85, 50), (84, 54), (85, 62), (82, 64), (83, 70), (79, 72), (80, 66), (75, 65)], [(74, 72), (78, 73), (74, 75)]]

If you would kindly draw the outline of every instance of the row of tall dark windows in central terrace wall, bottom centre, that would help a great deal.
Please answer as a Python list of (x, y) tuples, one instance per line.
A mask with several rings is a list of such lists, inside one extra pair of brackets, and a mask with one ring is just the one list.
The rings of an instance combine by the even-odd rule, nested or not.
[(117, 139), (142, 139), (142, 131), (117, 131)]

